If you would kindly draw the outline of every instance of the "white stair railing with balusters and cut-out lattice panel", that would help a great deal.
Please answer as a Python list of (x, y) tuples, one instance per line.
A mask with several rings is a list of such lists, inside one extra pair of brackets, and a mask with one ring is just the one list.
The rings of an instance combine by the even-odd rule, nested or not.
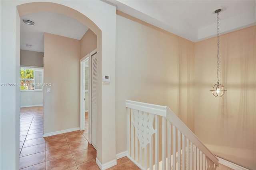
[(167, 106), (126, 100), (127, 157), (141, 169), (216, 170), (218, 158)]

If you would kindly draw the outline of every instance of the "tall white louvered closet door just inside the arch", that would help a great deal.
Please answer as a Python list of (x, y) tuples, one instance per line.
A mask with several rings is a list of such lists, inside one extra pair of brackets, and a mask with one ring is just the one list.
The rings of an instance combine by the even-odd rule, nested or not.
[(91, 144), (97, 143), (97, 54), (92, 55)]

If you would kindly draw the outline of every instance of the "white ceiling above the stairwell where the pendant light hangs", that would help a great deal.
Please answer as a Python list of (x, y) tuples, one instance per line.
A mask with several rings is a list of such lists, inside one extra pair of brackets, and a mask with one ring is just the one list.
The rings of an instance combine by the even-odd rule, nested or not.
[(108, 0), (126, 14), (192, 42), (255, 25), (255, 0)]

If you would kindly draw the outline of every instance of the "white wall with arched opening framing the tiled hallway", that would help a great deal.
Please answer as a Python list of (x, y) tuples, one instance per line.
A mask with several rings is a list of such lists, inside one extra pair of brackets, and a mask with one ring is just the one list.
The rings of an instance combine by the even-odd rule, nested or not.
[[(23, 4), (28, 2), (27, 4)], [(107, 72), (113, 77), (113, 83), (105, 86), (100, 83), (98, 86), (98, 118), (97, 121), (97, 160), (98, 165), (104, 167), (104, 164), (116, 160), (115, 158), (115, 12), (114, 6), (110, 6), (101, 1), (87, 2), (87, 1), (53, 1), (52, 2), (31, 2), (31, 1), (6, 1), (1, 2), (1, 15), (9, 16), (8, 20), (1, 19), (1, 39), (8, 43), (1, 43), (1, 56), (7, 56), (1, 60), (1, 66), (8, 64), (8, 67), (14, 67), (11, 74), (16, 75), (14, 78), (4, 79), (2, 75), (5, 71), (1, 72), (1, 80), (18, 82), (18, 71), (17, 65), (19, 64), (19, 44), (20, 37), (18, 30), (20, 29), (19, 18), (24, 14), (31, 12), (57, 12), (60, 14), (68, 15), (76, 20), (86, 24), (96, 35), (97, 35), (97, 49), (99, 56), (99, 72)], [(15, 8), (18, 10), (15, 11)], [(2, 10), (6, 9), (6, 10)], [(8, 10), (7, 10), (8, 9)], [(90, 19), (86, 16), (90, 16)], [(11, 29), (9, 29), (11, 28)], [(13, 29), (12, 29), (13, 28)], [(10, 36), (12, 35), (12, 36)], [(102, 38), (104, 36), (104, 38)], [(16, 44), (10, 46), (10, 44)], [(104, 45), (102, 45), (104, 44)], [(9, 45), (9, 46), (8, 46)], [(8, 54), (8, 55), (7, 55)], [(10, 56), (8, 58), (8, 56)], [(99, 82), (102, 82), (102, 75), (99, 74), (97, 77)], [(4, 81), (3, 81), (4, 80)], [(14, 93), (13, 93), (14, 92)], [(10, 128), (9, 133), (1, 133), (1, 154), (9, 152), (8, 155), (1, 156), (1, 169), (18, 169), (18, 128), (19, 124), (19, 91), (12, 89), (10, 93), (6, 91), (4, 93), (1, 89), (1, 97), (4, 98), (9, 96), (10, 101), (13, 99), (15, 102), (4, 101), (1, 102), (1, 129)], [(79, 104), (78, 104), (79, 106)], [(15, 112), (15, 118), (13, 113)], [(104, 114), (103, 114), (104, 112)], [(79, 114), (79, 113), (78, 113)], [(79, 122), (79, 120), (78, 120)], [(112, 126), (105, 126), (106, 124), (112, 124)], [(78, 126), (79, 127), (79, 126)], [(103, 142), (104, 139), (104, 142)], [(9, 142), (14, 141), (14, 142)], [(9, 150), (8, 148), (13, 148)], [(15, 157), (15, 158), (14, 158)], [(10, 164), (13, 167), (10, 167)], [(113, 166), (113, 165), (112, 165)], [(101, 168), (102, 168), (101, 167)]]

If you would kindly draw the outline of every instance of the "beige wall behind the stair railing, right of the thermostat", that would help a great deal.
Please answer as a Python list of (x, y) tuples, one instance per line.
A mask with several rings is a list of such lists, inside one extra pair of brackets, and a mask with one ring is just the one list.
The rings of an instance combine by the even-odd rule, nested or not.
[(166, 105), (194, 130), (193, 42), (118, 12), (116, 56), (116, 153), (126, 150), (126, 99)]

